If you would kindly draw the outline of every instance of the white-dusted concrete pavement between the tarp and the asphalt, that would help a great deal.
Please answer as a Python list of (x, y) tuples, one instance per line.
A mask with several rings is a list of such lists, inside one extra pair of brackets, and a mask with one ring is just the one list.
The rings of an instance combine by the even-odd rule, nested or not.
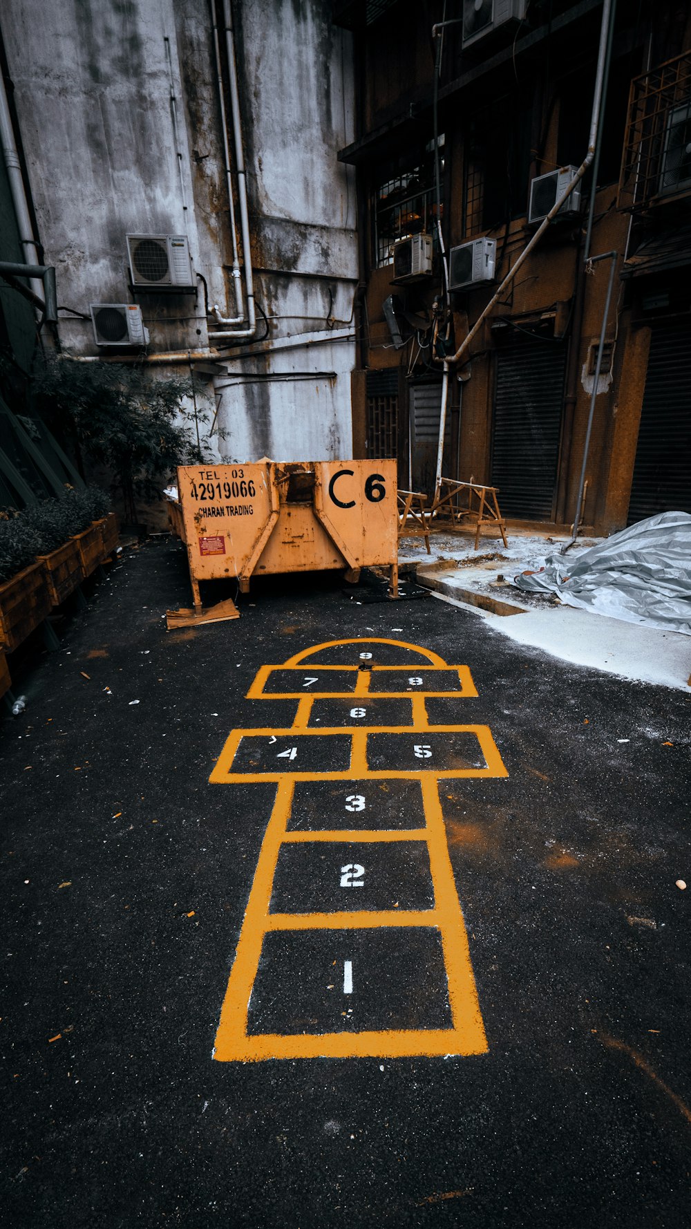
[[(470, 530), (433, 530), (428, 554), (423, 538), (409, 535), (401, 538), (400, 567), (413, 571), (417, 583), (438, 597), (475, 608), (491, 627), (519, 644), (621, 678), (691, 692), (689, 637), (607, 618), (566, 606), (556, 595), (515, 587), (518, 573), (540, 568), (545, 556), (558, 551), (569, 535), (509, 526), (507, 537), (508, 548), (500, 538), (484, 537), (475, 551)], [(600, 541), (579, 538), (569, 554), (577, 558)]]

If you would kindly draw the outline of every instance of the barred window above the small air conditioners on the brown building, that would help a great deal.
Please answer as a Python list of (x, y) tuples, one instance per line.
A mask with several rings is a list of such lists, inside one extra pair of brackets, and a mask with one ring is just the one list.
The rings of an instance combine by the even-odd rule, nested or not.
[[(440, 197), (444, 189), (444, 135), (439, 136)], [(434, 141), (423, 154), (400, 168), (390, 168), (373, 194), (374, 267), (393, 259), (393, 245), (411, 235), (432, 235), (436, 249), (436, 190), (434, 186)], [(444, 206), (441, 206), (444, 208)]]

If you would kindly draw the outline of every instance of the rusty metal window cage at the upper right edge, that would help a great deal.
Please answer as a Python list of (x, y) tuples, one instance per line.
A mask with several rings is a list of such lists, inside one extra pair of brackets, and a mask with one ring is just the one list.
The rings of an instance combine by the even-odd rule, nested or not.
[(621, 165), (618, 208), (691, 193), (691, 52), (634, 77)]

